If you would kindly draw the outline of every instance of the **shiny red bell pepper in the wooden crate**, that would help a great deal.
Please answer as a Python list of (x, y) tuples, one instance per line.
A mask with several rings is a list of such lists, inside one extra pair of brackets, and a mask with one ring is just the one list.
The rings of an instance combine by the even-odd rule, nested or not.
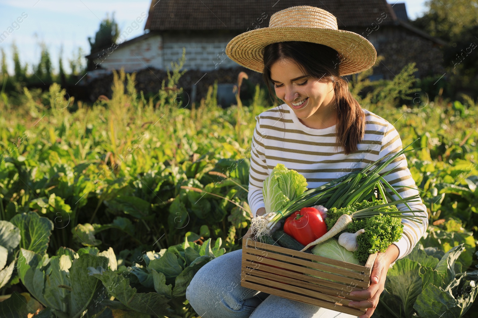
[(307, 245), (326, 234), (327, 226), (315, 207), (303, 207), (285, 219), (284, 232)]

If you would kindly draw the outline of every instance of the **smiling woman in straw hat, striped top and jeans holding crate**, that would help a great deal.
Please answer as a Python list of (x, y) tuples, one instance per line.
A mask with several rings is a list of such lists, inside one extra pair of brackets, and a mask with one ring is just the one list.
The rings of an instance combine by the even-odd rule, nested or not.
[[(240, 65), (262, 72), (264, 81), (273, 83), (283, 102), (256, 117), (248, 195), (254, 215), (265, 213), (262, 181), (277, 163), (303, 174), (308, 187), (315, 188), (402, 149), (393, 125), (361, 109), (348, 83), (340, 78), (371, 67), (377, 56), (373, 45), (356, 33), (337, 30), (336, 18), (329, 12), (310, 6), (278, 11), (271, 16), (268, 28), (231, 40), (227, 54)], [(273, 96), (271, 85), (269, 89)], [(384, 178), (402, 197), (418, 193), (404, 155), (382, 173), (390, 170)], [(410, 206), (426, 211), (421, 200)], [(408, 210), (404, 204), (397, 208)], [(402, 223), (402, 238), (379, 253), (369, 288), (351, 293), (364, 300), (353, 301), (350, 306), (368, 308), (360, 318), (372, 315), (388, 268), (410, 253), (428, 225), (427, 218), (421, 224)], [(354, 317), (241, 287), (241, 252), (213, 259), (187, 287), (186, 298), (201, 317)]]

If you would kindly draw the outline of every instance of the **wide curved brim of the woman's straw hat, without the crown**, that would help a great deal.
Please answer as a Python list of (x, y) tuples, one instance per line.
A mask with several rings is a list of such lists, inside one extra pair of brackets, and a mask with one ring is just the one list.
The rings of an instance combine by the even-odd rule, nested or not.
[(340, 76), (363, 72), (377, 59), (372, 43), (355, 32), (294, 27), (266, 27), (241, 33), (229, 41), (226, 54), (239, 65), (262, 73), (264, 47), (284, 41), (313, 42), (333, 48), (341, 57)]

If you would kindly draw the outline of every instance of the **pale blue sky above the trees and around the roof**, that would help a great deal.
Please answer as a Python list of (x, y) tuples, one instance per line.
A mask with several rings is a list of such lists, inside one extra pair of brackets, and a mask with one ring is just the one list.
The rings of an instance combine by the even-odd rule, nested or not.
[[(425, 0), (388, 2), (391, 5), (405, 2), (411, 20), (423, 15), (426, 10)], [(141, 17), (141, 13), (147, 15), (150, 4), (151, 0), (0, 0), (0, 33), (13, 30), (6, 38), (0, 38), (0, 49), (5, 51), (8, 71), (13, 74), (13, 42), (18, 47), (22, 67), (28, 64), (28, 73), (33, 73), (33, 64), (40, 61), (40, 43), (43, 42), (50, 53), (54, 73), (58, 72), (58, 58), (63, 45), (63, 67), (69, 73), (68, 60), (78, 54), (79, 48), (82, 48), (83, 56), (89, 54), (88, 37), (94, 39), (101, 20), (107, 15), (111, 17), (114, 12), (121, 33)], [(144, 34), (145, 23), (146, 19), (126, 41)], [(86, 59), (83, 62), (86, 64)]]

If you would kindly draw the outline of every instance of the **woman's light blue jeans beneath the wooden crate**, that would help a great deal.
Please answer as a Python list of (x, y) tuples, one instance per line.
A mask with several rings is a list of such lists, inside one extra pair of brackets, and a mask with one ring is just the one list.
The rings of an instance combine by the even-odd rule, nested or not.
[(240, 286), (242, 249), (201, 267), (186, 289), (186, 299), (202, 318), (356, 318)]

